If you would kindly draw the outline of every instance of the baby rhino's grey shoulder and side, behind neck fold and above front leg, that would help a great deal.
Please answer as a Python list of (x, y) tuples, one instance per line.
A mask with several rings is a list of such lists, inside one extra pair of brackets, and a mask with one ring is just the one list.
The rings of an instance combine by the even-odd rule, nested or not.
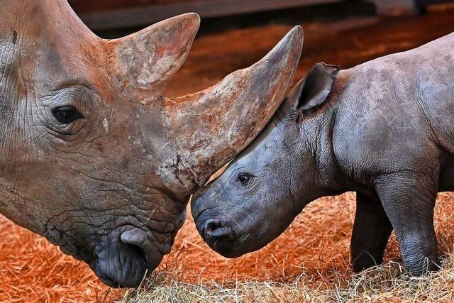
[(454, 94), (445, 83), (454, 64), (443, 52), (453, 38), (339, 72), (333, 150), (354, 179), (426, 170), (438, 158), (439, 141), (453, 142), (445, 126)]

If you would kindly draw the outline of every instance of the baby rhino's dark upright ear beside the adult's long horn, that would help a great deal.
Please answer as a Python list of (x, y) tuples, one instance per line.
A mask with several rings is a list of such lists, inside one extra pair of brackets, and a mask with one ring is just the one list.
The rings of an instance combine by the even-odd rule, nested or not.
[(289, 92), (284, 106), (289, 110), (316, 109), (321, 106), (333, 89), (334, 78), (339, 71), (338, 65), (317, 63)]

